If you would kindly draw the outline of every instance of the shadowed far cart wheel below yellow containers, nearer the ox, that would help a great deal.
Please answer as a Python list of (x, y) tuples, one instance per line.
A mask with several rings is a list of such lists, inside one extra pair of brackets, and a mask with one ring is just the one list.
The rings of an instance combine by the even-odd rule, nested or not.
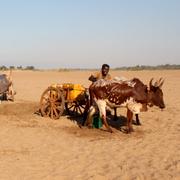
[(73, 101), (65, 103), (67, 113), (72, 116), (82, 116), (84, 114), (85, 106), (86, 101)]

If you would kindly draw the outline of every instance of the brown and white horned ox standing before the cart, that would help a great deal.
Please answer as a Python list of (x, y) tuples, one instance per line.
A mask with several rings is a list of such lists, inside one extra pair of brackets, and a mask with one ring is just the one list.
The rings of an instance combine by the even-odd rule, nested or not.
[(144, 85), (139, 79), (132, 80), (104, 80), (100, 79), (89, 87), (90, 108), (88, 111), (85, 125), (91, 127), (93, 115), (99, 109), (99, 114), (109, 132), (106, 120), (106, 106), (111, 108), (127, 108), (127, 133), (133, 131), (132, 118), (133, 114), (139, 114), (147, 111), (147, 106), (158, 106), (165, 108), (163, 92), (161, 87), (164, 83), (162, 78), (152, 84), (153, 78), (149, 82), (149, 87)]

